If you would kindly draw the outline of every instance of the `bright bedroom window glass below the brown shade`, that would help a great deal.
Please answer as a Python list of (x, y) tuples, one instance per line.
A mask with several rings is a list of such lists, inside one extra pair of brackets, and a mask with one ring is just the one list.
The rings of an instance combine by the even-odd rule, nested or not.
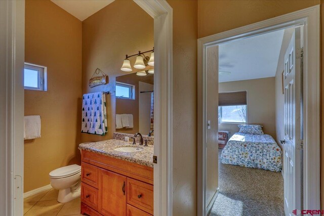
[(219, 106), (219, 123), (247, 123), (247, 105)]

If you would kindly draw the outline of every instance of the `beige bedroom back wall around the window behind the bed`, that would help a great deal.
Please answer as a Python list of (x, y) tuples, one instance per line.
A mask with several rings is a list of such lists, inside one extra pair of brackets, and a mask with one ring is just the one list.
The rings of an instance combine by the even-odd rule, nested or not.
[[(219, 83), (219, 92), (236, 91), (247, 91), (248, 123), (261, 124), (275, 139), (274, 77)], [(230, 136), (239, 131), (237, 124), (222, 123), (219, 129), (230, 131)]]

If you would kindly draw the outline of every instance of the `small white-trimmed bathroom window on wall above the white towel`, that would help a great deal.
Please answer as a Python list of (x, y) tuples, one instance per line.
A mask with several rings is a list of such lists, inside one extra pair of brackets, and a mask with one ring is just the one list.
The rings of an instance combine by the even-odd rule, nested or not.
[(47, 91), (46, 67), (25, 63), (24, 88), (26, 90)]

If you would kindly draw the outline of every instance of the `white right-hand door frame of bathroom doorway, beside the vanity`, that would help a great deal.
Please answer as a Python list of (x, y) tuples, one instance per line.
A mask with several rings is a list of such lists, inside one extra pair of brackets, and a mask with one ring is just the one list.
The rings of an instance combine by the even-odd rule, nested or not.
[(172, 215), (173, 9), (166, 0), (133, 0), (154, 19), (154, 215)]

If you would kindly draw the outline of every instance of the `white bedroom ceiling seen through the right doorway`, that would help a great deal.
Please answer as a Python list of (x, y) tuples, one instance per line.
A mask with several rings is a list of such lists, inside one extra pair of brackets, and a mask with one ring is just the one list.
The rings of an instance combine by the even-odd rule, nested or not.
[(275, 76), (283, 36), (279, 30), (220, 45), (219, 82)]

